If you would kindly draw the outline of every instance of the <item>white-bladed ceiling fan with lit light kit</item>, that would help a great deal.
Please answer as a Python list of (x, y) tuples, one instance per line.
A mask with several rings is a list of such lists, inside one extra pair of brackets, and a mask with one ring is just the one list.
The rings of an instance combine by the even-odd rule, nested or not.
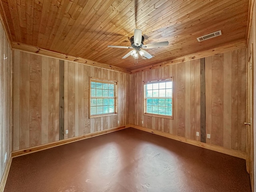
[(130, 52), (128, 52), (125, 56), (123, 56), (122, 59), (125, 59), (130, 55), (133, 56), (135, 59), (138, 59), (139, 54), (142, 57), (144, 56), (144, 57), (150, 59), (153, 56), (143, 49), (159, 48), (159, 47), (166, 46), (169, 44), (168, 41), (163, 41), (163, 42), (156, 42), (156, 43), (150, 43), (150, 44), (144, 45), (143, 44), (144, 36), (142, 36), (142, 31), (139, 29), (134, 30), (134, 36), (132, 36), (130, 38), (130, 42), (131, 42), (131, 47), (115, 46), (115, 45), (108, 45), (108, 47), (133, 49)]

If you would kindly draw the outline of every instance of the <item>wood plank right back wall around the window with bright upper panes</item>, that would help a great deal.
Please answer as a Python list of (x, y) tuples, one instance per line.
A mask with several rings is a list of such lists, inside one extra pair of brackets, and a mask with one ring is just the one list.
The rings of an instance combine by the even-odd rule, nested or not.
[[(142, 81), (169, 76), (173, 120), (144, 116)], [(205, 58), (205, 79), (206, 143), (246, 152), (246, 49)], [(132, 74), (131, 84), (131, 124), (200, 141), (200, 59)]]

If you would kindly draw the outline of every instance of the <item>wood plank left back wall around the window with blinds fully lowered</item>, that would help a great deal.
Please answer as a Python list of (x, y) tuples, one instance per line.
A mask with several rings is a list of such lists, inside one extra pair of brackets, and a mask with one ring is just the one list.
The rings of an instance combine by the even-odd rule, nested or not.
[[(13, 151), (59, 140), (60, 60), (14, 51)], [(118, 115), (89, 119), (89, 77), (118, 81)], [(64, 139), (129, 124), (130, 74), (64, 62)], [(119, 124), (118, 124), (119, 121)]]

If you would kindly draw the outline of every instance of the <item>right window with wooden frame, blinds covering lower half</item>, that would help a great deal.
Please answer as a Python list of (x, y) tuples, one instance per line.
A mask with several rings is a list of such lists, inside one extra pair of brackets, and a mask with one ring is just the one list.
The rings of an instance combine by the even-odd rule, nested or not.
[(172, 78), (144, 82), (144, 114), (172, 118)]

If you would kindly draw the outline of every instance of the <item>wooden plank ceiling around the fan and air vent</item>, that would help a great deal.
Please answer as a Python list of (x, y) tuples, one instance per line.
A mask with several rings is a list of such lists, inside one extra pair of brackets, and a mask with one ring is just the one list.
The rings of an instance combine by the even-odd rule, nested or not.
[[(77, 56), (129, 70), (246, 39), (249, 0), (1, 0), (1, 15), (12, 42)], [(129, 56), (134, 29), (153, 58)], [(202, 42), (197, 37), (222, 30)]]

